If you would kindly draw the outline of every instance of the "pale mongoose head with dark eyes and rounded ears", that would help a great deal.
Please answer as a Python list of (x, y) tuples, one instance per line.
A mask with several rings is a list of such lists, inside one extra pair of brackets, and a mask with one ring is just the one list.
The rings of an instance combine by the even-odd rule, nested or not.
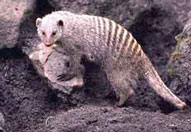
[(36, 26), (41, 41), (46, 46), (51, 46), (61, 38), (64, 23), (60, 16), (46, 15), (43, 18), (36, 19)]

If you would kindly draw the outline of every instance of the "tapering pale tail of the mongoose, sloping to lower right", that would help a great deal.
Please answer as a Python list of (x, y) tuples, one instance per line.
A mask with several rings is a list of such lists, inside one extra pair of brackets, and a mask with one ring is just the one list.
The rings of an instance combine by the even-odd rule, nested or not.
[(158, 95), (160, 95), (166, 101), (171, 102), (176, 108), (184, 109), (186, 104), (170, 91), (170, 89), (161, 80), (148, 57), (145, 54), (143, 56), (143, 69), (145, 71), (144, 77), (148, 81), (149, 85)]

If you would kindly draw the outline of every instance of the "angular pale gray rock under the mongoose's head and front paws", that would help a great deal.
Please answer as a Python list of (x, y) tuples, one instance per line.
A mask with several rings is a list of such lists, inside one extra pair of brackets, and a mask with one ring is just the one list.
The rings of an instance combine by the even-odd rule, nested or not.
[(43, 43), (29, 55), (40, 75), (46, 77), (53, 89), (70, 94), (72, 88), (84, 86), (81, 55), (63, 44), (46, 47)]

